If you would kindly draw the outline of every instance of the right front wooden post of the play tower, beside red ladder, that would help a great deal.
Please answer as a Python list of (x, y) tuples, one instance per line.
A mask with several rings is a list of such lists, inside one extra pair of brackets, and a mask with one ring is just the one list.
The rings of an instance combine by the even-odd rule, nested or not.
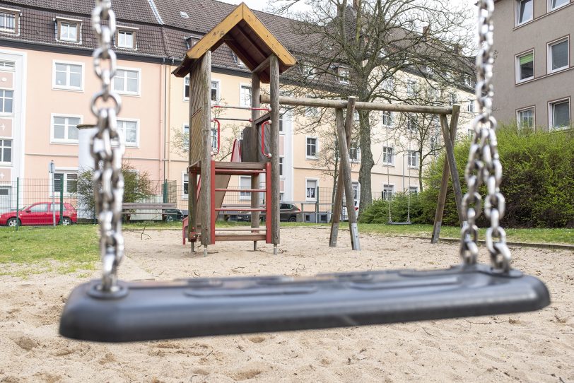
[[(271, 239), (273, 240), (273, 254), (277, 254), (277, 245), (281, 242), (279, 236), (279, 194), (281, 184), (279, 181), (279, 59), (271, 54), (269, 59), (269, 96), (271, 98)], [(257, 142), (257, 141), (256, 141)], [(269, 187), (267, 185), (266, 187)]]

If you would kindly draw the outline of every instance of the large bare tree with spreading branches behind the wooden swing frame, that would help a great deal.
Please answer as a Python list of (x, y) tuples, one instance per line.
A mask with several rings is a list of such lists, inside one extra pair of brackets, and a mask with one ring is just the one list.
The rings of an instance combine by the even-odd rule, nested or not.
[[(276, 2), (276, 12), (290, 11), (302, 0)], [(293, 14), (295, 33), (304, 35), (298, 49), (301, 66), (285, 76), (293, 93), (315, 90), (325, 98), (357, 97), (358, 101), (405, 102), (397, 92), (403, 73), (455, 83), (472, 73), (462, 57), (470, 47), (465, 28), (471, 18), (447, 0), (306, 0), (310, 11)], [(373, 131), (370, 112), (358, 112), (361, 148), (360, 210), (371, 204)], [(318, 124), (316, 124), (318, 126)]]

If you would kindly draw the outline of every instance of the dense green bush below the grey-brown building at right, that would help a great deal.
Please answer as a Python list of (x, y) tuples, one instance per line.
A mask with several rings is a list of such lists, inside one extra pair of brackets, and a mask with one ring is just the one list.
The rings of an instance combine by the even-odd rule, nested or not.
[[(469, 140), (457, 143), (455, 158), (462, 192), (466, 192), (464, 168)], [(504, 126), (498, 131), (498, 153), (503, 165), (500, 190), (506, 198), (502, 224), (511, 228), (574, 227), (574, 134), (573, 131), (537, 133)], [(441, 155), (426, 171), (426, 189), (419, 196), (421, 222), (432, 223), (438, 200), (445, 157)], [(481, 194), (486, 192), (481, 187)], [(444, 225), (458, 225), (452, 183), (449, 180)], [(479, 225), (488, 223), (484, 215)]]

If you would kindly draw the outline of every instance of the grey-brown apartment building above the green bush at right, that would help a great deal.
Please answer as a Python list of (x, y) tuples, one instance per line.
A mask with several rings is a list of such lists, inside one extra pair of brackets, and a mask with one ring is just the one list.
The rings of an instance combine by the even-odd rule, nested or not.
[(500, 122), (555, 131), (572, 126), (570, 0), (498, 0), (493, 83)]

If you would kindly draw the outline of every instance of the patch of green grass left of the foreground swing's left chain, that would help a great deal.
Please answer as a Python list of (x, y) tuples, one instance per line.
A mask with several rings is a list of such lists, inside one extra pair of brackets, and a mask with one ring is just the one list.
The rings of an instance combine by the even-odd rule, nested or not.
[(49, 271), (93, 270), (98, 259), (94, 225), (0, 230), (0, 274), (25, 277)]

